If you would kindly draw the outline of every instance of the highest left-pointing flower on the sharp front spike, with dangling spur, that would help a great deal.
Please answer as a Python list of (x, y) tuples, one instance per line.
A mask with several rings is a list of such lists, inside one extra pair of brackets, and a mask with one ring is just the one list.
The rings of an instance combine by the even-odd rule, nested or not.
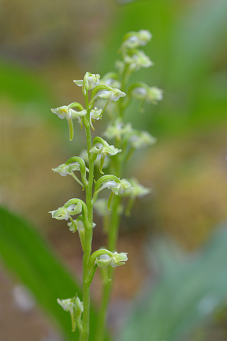
[[(77, 112), (77, 110), (72, 108), (77, 108), (80, 110)], [(63, 105), (62, 107), (51, 109), (51, 111), (54, 114), (57, 114), (60, 119), (67, 119), (70, 129), (70, 141), (72, 141), (74, 134), (72, 119), (78, 119), (79, 124), (82, 127), (82, 117), (87, 114), (87, 110), (84, 109), (79, 103), (71, 103), (69, 105)]]

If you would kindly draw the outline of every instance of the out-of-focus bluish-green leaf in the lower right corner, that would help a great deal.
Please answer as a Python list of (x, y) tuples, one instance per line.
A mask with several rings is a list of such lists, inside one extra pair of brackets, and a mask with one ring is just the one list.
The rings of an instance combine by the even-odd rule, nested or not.
[(227, 224), (199, 256), (167, 271), (135, 305), (119, 341), (182, 340), (204, 323), (227, 296)]

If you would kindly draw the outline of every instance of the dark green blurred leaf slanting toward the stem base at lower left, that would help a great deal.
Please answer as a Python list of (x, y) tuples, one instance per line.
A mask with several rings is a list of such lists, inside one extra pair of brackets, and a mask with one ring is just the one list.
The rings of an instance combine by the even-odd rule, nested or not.
[[(67, 340), (79, 340), (71, 332), (70, 314), (57, 304), (57, 298), (70, 298), (81, 287), (31, 224), (0, 207), (0, 256), (11, 274), (26, 285), (37, 303), (57, 323)], [(94, 335), (95, 310), (91, 309), (90, 335)]]

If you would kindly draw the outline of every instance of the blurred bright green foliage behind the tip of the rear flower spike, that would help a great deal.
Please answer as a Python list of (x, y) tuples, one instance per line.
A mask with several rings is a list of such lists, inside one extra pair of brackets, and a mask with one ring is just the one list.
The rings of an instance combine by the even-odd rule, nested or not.
[(124, 33), (148, 29), (153, 40), (145, 50), (155, 67), (135, 78), (165, 91), (152, 116), (137, 114), (133, 103), (127, 119), (165, 136), (226, 122), (226, 15), (226, 0), (135, 1), (116, 9), (98, 64), (113, 69)]

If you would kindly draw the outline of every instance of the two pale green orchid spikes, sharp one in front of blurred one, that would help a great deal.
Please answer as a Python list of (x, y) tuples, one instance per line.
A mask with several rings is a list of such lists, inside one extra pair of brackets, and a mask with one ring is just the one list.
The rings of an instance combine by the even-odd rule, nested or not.
[[(126, 252), (116, 251), (120, 215), (123, 212), (130, 215), (136, 198), (150, 193), (150, 189), (138, 183), (135, 178), (124, 178), (123, 167), (136, 150), (151, 146), (156, 141), (150, 133), (133, 128), (124, 118), (125, 109), (134, 99), (139, 99), (141, 104), (157, 104), (162, 100), (162, 90), (158, 87), (150, 87), (143, 82), (129, 82), (133, 72), (153, 65), (148, 55), (140, 49), (151, 38), (152, 35), (146, 30), (127, 33), (119, 50), (121, 60), (116, 61), (116, 72), (108, 72), (103, 77), (86, 72), (82, 80), (74, 80), (74, 84), (82, 89), (84, 106), (73, 102), (51, 109), (57, 117), (67, 120), (70, 141), (74, 137), (74, 119), (84, 129), (87, 139), (87, 148), (79, 156), (72, 156), (65, 163), (52, 168), (55, 173), (63, 177), (70, 175), (82, 185), (86, 200), (70, 199), (62, 207), (50, 211), (52, 218), (56, 220), (70, 220), (67, 226), (73, 234), (78, 232), (84, 251), (82, 301), (77, 295), (57, 299), (57, 303), (70, 312), (72, 331), (77, 327), (79, 340), (83, 341), (89, 340), (89, 291), (96, 269), (99, 269), (101, 275), (106, 291), (103, 299), (106, 300), (111, 294), (109, 280), (113, 278), (114, 268), (128, 260)], [(109, 124), (101, 134), (107, 141), (101, 136), (93, 138), (92, 134), (95, 133), (92, 130), (98, 124), (96, 122), (108, 114)], [(114, 139), (112, 144), (109, 143), (111, 139)], [(95, 170), (96, 166), (99, 169)], [(99, 197), (106, 189), (110, 191), (109, 200)], [(96, 226), (93, 220), (94, 210), (103, 217), (107, 245), (92, 253), (93, 228)], [(106, 309), (107, 303), (102, 301), (100, 309)], [(104, 311), (99, 314), (99, 318), (103, 319), (99, 320), (100, 325), (104, 325), (105, 315)]]

